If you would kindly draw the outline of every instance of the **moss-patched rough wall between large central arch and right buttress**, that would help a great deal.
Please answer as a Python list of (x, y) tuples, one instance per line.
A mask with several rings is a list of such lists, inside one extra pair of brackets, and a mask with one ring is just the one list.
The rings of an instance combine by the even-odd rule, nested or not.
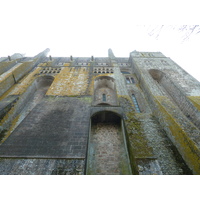
[(192, 174), (151, 113), (130, 115), (134, 108), (125, 98), (120, 105), (126, 113), (129, 151), (137, 159), (139, 174)]

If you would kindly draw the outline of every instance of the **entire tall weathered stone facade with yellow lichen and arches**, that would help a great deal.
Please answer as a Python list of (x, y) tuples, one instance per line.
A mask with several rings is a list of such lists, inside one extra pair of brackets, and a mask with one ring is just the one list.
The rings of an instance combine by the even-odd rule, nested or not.
[(200, 174), (200, 83), (160, 52), (0, 62), (0, 174)]

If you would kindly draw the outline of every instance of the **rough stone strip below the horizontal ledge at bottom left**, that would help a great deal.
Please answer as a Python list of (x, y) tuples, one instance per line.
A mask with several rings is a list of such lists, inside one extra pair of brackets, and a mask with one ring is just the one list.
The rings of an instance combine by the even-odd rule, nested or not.
[(83, 175), (84, 159), (0, 159), (1, 175)]

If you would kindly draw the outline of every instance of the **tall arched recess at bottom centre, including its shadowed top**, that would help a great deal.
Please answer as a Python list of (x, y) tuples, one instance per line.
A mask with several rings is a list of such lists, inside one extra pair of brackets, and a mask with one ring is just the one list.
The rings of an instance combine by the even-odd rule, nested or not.
[(121, 117), (101, 111), (91, 117), (87, 174), (131, 174)]

